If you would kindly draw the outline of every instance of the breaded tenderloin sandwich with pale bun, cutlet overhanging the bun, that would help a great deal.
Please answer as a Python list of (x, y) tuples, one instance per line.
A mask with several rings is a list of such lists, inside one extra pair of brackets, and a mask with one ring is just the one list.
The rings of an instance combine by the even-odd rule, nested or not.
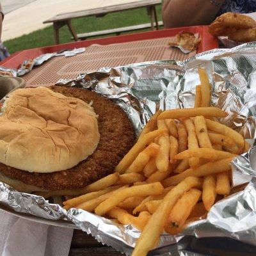
[(24, 88), (2, 109), (1, 181), (46, 198), (83, 195), (119, 180), (113, 171), (132, 147), (134, 131), (111, 100), (65, 86)]

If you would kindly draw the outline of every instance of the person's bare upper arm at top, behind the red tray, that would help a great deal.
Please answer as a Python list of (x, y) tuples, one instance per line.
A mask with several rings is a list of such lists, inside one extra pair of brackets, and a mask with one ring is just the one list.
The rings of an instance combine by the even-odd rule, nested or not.
[[(223, 3), (225, 0), (216, 0)], [(220, 6), (210, 0), (164, 0), (162, 17), (166, 28), (210, 24)]]

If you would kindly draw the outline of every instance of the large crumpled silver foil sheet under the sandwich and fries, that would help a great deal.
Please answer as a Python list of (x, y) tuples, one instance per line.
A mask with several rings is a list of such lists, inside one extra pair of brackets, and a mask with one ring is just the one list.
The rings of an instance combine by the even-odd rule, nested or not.
[[(234, 49), (203, 52), (186, 61), (150, 61), (125, 67), (101, 68), (96, 72), (80, 74), (75, 80), (61, 79), (57, 84), (88, 88), (113, 99), (127, 113), (138, 134), (159, 108), (193, 107), (195, 86), (200, 83), (197, 68), (204, 67), (212, 83), (212, 105), (229, 113), (226, 118), (221, 118), (221, 122), (254, 141), (255, 63), (256, 43), (249, 43)], [(237, 185), (248, 183), (244, 190), (237, 190), (237, 193), (217, 202), (205, 220), (190, 223), (178, 236), (163, 234), (157, 248), (149, 255), (200, 255), (195, 244), (211, 237), (220, 237), (225, 243), (227, 239), (235, 239), (233, 241), (237, 240), (237, 243), (241, 241), (256, 245), (255, 150), (256, 144), (248, 153), (232, 161), (235, 189)], [(13, 191), (3, 183), (0, 183), (0, 202), (15, 211), (43, 218), (66, 218), (101, 243), (127, 255), (131, 254), (140, 236), (140, 231), (131, 225), (118, 225), (81, 209), (65, 211), (59, 205), (49, 204), (41, 196)], [(222, 248), (220, 243), (215, 246), (218, 250)], [(232, 248), (236, 246), (232, 245)]]

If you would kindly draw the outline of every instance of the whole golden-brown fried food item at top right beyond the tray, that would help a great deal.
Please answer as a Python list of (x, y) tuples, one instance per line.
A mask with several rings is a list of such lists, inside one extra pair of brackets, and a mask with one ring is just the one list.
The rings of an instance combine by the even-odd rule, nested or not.
[(247, 15), (227, 12), (217, 17), (209, 26), (213, 36), (228, 36), (235, 42), (256, 40), (256, 21)]

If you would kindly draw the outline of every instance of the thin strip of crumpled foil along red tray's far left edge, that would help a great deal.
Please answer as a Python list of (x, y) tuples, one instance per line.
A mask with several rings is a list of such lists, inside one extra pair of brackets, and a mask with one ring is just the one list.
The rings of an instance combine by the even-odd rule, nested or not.
[(23, 76), (24, 74), (30, 72), (34, 66), (41, 65), (42, 63), (44, 63), (44, 61), (47, 61), (52, 57), (61, 56), (61, 55), (65, 57), (75, 56), (76, 54), (79, 54), (84, 51), (85, 51), (85, 48), (81, 47), (81, 48), (75, 48), (75, 49), (65, 49), (58, 52), (46, 53), (36, 57), (35, 59), (23, 61), (23, 63), (20, 65), (20, 68), (18, 69), (0, 67), (0, 71), (11, 72), (13, 76)]

